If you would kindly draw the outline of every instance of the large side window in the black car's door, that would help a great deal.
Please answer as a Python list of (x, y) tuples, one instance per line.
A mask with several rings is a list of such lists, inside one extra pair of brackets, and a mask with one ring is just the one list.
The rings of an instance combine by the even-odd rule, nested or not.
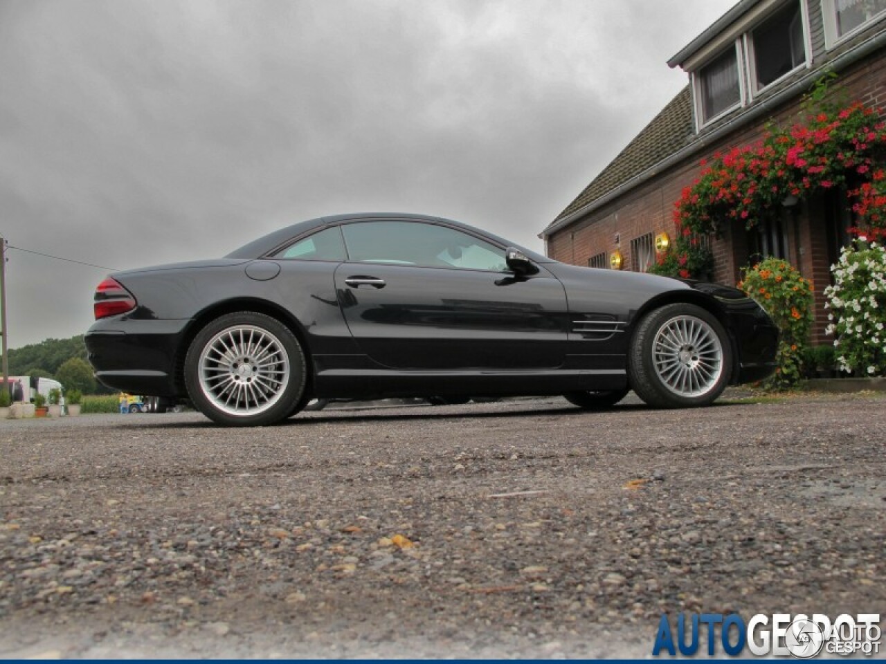
[(504, 272), (504, 250), (455, 228), (409, 221), (359, 221), (342, 226), (351, 260)]

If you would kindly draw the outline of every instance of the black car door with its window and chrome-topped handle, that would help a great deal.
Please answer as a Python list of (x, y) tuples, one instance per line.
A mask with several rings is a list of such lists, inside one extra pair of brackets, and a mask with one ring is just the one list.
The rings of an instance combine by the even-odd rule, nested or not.
[(515, 278), (503, 248), (431, 222), (342, 226), (338, 303), (370, 359), (396, 369), (533, 369), (563, 364), (567, 305), (543, 268)]

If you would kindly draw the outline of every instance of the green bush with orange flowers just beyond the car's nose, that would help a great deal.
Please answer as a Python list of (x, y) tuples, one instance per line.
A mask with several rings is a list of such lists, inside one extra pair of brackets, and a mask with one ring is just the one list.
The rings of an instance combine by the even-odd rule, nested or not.
[(766, 259), (745, 268), (738, 287), (757, 300), (778, 326), (775, 374), (765, 387), (788, 390), (802, 377), (804, 349), (812, 328), (812, 284), (786, 260)]

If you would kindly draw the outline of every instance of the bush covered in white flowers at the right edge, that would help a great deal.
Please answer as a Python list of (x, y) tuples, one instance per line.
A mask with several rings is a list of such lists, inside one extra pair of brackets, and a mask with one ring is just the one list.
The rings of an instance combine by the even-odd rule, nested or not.
[(825, 289), (828, 334), (835, 335), (842, 371), (886, 375), (886, 249), (857, 240), (843, 247), (831, 267), (834, 285)]

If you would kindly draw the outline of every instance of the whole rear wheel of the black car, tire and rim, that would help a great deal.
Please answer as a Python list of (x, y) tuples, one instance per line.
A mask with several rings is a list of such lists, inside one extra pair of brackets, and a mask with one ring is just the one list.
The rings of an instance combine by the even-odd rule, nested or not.
[(305, 354), (279, 320), (228, 313), (194, 337), (184, 359), (184, 382), (193, 405), (210, 420), (266, 426), (285, 420), (301, 401)]

